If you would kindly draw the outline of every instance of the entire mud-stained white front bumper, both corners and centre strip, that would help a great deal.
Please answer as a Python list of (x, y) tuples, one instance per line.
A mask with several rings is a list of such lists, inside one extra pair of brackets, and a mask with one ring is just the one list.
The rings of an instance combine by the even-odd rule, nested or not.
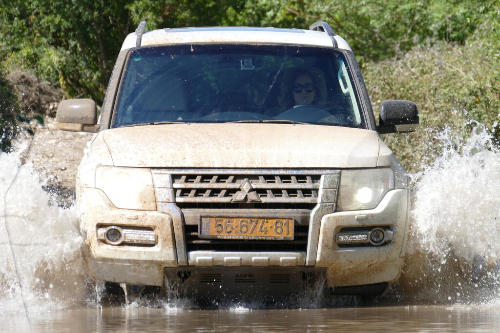
[[(78, 195), (90, 276), (95, 280), (151, 286), (163, 285), (165, 270), (229, 266), (245, 270), (251, 267), (252, 271), (264, 268), (279, 271), (284, 266), (326, 271), (328, 287), (392, 282), (398, 278), (402, 266), (407, 204), (407, 190), (396, 189), (389, 191), (375, 209), (325, 214), (319, 228), (310, 228), (317, 234), (309, 234), (308, 249), (304, 252), (192, 251), (177, 256), (179, 249), (185, 249), (183, 237), (178, 237), (179, 231), (175, 231), (172, 222), (178, 219), (178, 211), (169, 214), (118, 209), (102, 191), (94, 188), (82, 188)], [(150, 228), (157, 243), (149, 247), (105, 244), (97, 239), (97, 228), (109, 225)], [(390, 227), (394, 233), (392, 241), (379, 247), (340, 248), (335, 243), (335, 235), (342, 228), (374, 226)], [(188, 265), (179, 265), (178, 257), (187, 258)]]

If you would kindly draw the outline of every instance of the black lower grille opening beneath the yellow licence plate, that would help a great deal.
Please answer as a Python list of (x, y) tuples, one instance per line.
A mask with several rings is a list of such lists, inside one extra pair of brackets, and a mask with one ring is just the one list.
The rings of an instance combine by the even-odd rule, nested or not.
[(304, 252), (307, 248), (309, 226), (295, 225), (295, 237), (292, 241), (255, 241), (229, 239), (199, 239), (198, 226), (185, 226), (187, 251), (237, 251), (237, 252)]

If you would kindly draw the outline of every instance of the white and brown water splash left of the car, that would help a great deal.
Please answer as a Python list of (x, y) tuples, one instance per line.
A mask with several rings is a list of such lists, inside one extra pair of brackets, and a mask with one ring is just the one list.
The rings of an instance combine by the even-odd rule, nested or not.
[[(52, 204), (43, 183), (20, 155), (0, 153), (0, 313), (61, 309), (86, 299), (74, 207)], [(8, 228), (8, 229), (7, 229)]]

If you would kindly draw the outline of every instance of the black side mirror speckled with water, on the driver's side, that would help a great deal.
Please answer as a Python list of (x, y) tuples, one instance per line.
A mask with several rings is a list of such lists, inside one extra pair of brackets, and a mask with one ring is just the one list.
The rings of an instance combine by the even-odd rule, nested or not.
[(383, 133), (413, 132), (418, 128), (418, 109), (407, 100), (386, 100), (380, 106), (377, 131)]

